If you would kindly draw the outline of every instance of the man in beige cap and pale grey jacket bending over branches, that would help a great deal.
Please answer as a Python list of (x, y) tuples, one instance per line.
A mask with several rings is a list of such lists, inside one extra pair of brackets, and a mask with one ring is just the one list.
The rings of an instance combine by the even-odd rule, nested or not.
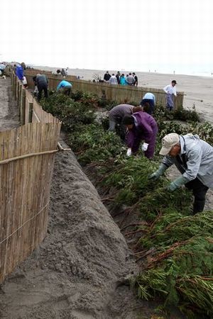
[(198, 135), (170, 133), (162, 139), (160, 155), (165, 157), (150, 179), (158, 179), (175, 164), (182, 175), (168, 185), (168, 191), (185, 185), (195, 197), (193, 213), (203, 211), (207, 190), (213, 188), (213, 147)]

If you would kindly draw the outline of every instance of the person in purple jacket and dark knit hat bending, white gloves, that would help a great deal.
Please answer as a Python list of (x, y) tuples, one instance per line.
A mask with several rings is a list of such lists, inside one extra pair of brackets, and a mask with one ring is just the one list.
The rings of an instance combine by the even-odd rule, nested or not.
[(139, 111), (133, 115), (126, 115), (123, 118), (123, 124), (126, 125), (129, 132), (126, 135), (126, 144), (128, 150), (126, 155), (136, 153), (140, 143), (144, 140), (142, 150), (148, 159), (152, 159), (155, 151), (156, 135), (158, 125), (155, 119), (146, 112)]

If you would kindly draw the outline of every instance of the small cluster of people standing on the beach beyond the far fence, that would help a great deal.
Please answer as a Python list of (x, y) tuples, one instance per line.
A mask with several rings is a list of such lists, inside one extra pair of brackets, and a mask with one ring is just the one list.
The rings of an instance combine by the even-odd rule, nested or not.
[(104, 74), (104, 82), (108, 82), (109, 84), (120, 84), (120, 85), (130, 85), (130, 86), (138, 86), (138, 77), (136, 74), (131, 72), (129, 74), (124, 75), (124, 73), (117, 72), (116, 75), (109, 74), (107, 71)]

